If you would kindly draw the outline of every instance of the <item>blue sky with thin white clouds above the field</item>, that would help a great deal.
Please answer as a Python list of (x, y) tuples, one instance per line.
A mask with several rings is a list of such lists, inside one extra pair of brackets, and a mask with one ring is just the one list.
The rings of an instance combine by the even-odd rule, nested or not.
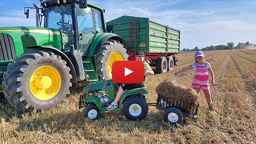
[[(180, 30), (180, 49), (256, 44), (256, 0), (88, 0), (105, 9), (106, 22), (122, 15), (149, 19)], [(0, 0), (0, 27), (35, 26), (39, 0)]]

